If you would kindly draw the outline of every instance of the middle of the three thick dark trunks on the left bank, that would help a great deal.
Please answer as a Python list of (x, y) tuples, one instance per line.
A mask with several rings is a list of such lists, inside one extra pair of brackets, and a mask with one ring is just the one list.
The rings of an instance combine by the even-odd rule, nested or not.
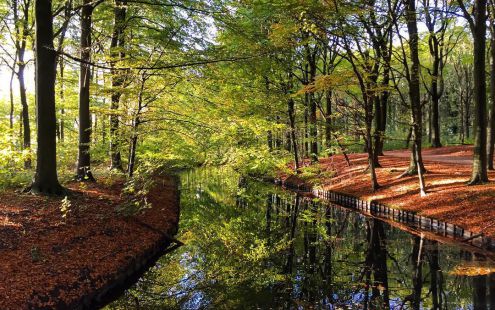
[(79, 148), (77, 154), (76, 179), (95, 181), (91, 173), (91, 113), (89, 111), (89, 86), (91, 81), (91, 0), (84, 0), (81, 9), (81, 59), (79, 75)]

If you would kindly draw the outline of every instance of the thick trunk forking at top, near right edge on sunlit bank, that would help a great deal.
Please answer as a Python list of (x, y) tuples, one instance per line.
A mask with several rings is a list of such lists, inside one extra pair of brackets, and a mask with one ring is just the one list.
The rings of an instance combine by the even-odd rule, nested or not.
[(463, 0), (457, 0), (464, 18), (469, 24), (473, 35), (474, 55), (474, 148), (473, 148), (473, 170), (469, 185), (488, 182), (487, 156), (486, 156), (486, 20), (487, 0), (475, 0), (473, 13), (469, 13)]

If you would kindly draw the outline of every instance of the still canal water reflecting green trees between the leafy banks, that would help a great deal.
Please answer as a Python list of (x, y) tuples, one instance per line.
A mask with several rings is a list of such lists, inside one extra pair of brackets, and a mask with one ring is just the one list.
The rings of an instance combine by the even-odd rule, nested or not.
[(227, 170), (182, 180), (178, 239), (110, 309), (495, 309), (495, 264)]

